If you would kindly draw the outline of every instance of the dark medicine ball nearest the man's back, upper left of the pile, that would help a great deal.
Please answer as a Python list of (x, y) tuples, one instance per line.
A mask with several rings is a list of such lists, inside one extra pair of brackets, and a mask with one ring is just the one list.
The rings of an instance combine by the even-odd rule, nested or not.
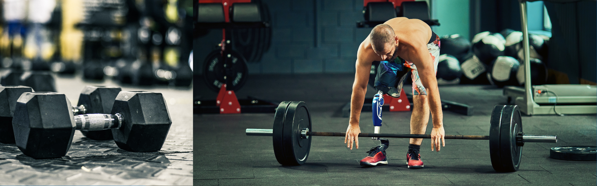
[(470, 51), (470, 41), (458, 34), (442, 36), (439, 54), (450, 54), (458, 61), (466, 60)]

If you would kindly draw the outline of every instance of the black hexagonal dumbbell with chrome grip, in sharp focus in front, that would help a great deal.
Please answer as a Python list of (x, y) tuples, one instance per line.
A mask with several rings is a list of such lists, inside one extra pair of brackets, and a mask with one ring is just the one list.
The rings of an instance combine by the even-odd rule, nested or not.
[(36, 158), (66, 155), (75, 129), (111, 129), (118, 147), (137, 152), (158, 151), (172, 121), (161, 93), (121, 91), (112, 114), (72, 115), (64, 94), (26, 92), (17, 101), (13, 129), (17, 147)]

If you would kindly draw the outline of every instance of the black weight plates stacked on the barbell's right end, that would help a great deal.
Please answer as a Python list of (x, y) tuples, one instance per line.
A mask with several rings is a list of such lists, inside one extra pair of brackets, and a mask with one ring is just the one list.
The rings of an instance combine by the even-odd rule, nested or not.
[(522, 132), (518, 106), (496, 106), (491, 112), (490, 156), (493, 169), (514, 172), (520, 167), (522, 147), (516, 145), (516, 134)]

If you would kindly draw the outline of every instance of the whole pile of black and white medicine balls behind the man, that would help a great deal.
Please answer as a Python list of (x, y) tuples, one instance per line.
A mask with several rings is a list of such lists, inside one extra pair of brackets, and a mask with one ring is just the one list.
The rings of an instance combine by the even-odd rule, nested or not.
[[(549, 37), (530, 33), (531, 81), (547, 81)], [(500, 33), (481, 32), (472, 42), (460, 35), (441, 37), (436, 74), (439, 85), (491, 84), (498, 87), (524, 85), (522, 32), (504, 29)]]

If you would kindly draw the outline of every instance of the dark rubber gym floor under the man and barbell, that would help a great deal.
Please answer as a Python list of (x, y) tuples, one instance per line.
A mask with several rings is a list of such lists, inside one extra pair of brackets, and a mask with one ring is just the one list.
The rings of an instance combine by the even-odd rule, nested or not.
[[(317, 132), (346, 132), (348, 118), (341, 107), (350, 100), (354, 75), (256, 75), (236, 92), (275, 101), (304, 101)], [(215, 99), (216, 93), (195, 80), (195, 97)], [(405, 85), (405, 91), (411, 91)], [(442, 100), (474, 106), (472, 116), (444, 111), (445, 134), (489, 135), (490, 114), (505, 104), (502, 89), (488, 85), (440, 86)], [(367, 97), (373, 97), (373, 88)], [(384, 112), (381, 133), (409, 134), (411, 112)], [(195, 114), (193, 185), (596, 185), (595, 161), (566, 161), (549, 157), (549, 148), (595, 145), (595, 115), (523, 116), (530, 135), (557, 135), (558, 143), (526, 143), (521, 168), (498, 173), (491, 167), (489, 142), (446, 139), (441, 151), (431, 151), (423, 139), (423, 169), (408, 169), (408, 139), (390, 139), (389, 165), (361, 168), (365, 151), (378, 145), (359, 138), (349, 150), (343, 137), (312, 137), (307, 162), (281, 166), (273, 154), (272, 137), (246, 136), (246, 128), (271, 129), (273, 113)], [(427, 125), (427, 134), (432, 127)], [(371, 113), (361, 114), (361, 132), (373, 133)]]

